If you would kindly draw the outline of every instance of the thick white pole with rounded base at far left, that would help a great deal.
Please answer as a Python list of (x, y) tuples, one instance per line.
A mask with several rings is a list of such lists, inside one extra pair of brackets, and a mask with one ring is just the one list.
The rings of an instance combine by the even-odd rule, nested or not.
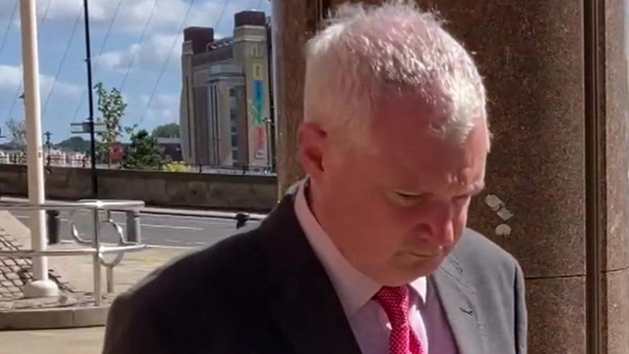
[[(40, 64), (37, 52), (37, 13), (35, 0), (20, 0), (22, 25), (22, 63), (24, 76), (24, 112), (26, 116), (26, 155), (28, 158), (28, 199), (30, 203), (45, 202), (44, 156), (40, 122)], [(31, 247), (46, 249), (46, 220), (44, 211), (33, 211), (30, 223)], [(35, 280), (25, 285), (25, 297), (45, 297), (59, 294), (57, 284), (48, 278), (48, 259), (33, 257)]]

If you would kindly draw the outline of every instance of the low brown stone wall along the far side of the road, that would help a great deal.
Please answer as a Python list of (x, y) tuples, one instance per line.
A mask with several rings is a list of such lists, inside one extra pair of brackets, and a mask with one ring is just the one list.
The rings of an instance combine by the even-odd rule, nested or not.
[[(89, 169), (46, 170), (51, 199), (93, 198)], [(276, 177), (98, 170), (98, 198), (136, 199), (166, 207), (269, 211), (277, 201)], [(0, 165), (0, 193), (25, 196), (25, 165)]]

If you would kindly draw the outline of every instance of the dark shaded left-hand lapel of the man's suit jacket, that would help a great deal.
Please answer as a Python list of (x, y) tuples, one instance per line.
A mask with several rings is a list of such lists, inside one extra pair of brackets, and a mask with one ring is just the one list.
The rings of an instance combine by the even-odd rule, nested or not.
[(271, 312), (294, 352), (360, 354), (334, 287), (300, 228), (292, 195), (260, 230), (269, 257)]

